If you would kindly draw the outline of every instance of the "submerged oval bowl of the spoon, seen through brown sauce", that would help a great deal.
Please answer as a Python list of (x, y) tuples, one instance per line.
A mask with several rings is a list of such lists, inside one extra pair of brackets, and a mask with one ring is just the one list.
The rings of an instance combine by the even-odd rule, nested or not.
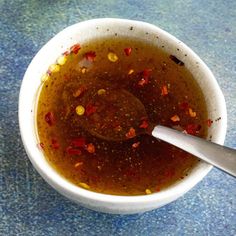
[(97, 91), (87, 91), (83, 97), (83, 102), (96, 111), (77, 119), (83, 129), (97, 138), (117, 142), (146, 132), (139, 127), (147, 113), (138, 98), (125, 89), (106, 88), (102, 94)]

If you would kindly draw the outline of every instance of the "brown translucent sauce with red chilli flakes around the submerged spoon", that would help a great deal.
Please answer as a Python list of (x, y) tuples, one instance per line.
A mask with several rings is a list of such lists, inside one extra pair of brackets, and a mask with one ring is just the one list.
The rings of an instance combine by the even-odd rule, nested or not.
[[(99, 139), (80, 120), (99, 110), (89, 103), (89, 90), (106, 96), (110, 88), (125, 89), (145, 106), (143, 129), (150, 122), (205, 138), (206, 104), (184, 63), (134, 39), (104, 38), (80, 46), (58, 61), (66, 59), (64, 65), (49, 68), (40, 90), (37, 132), (49, 163), (75, 185), (115, 195), (158, 192), (183, 179), (196, 157), (149, 135), (133, 137), (132, 130), (121, 142)], [(112, 129), (122, 127), (117, 123)]]

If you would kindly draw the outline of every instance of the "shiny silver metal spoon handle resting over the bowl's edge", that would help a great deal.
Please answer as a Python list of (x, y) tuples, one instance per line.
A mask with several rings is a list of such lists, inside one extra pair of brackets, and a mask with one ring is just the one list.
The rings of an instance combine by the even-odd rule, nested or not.
[(161, 125), (152, 135), (236, 177), (236, 150)]

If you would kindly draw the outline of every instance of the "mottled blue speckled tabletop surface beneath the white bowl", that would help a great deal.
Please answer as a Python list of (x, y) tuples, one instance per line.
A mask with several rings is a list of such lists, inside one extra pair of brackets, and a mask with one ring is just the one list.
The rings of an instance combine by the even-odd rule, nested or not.
[(236, 148), (235, 0), (0, 0), (0, 235), (236, 235), (236, 180), (217, 169), (177, 201), (131, 216), (80, 207), (33, 169), (17, 119), (24, 71), (58, 31), (97, 17), (156, 24), (198, 53), (225, 95), (225, 144)]

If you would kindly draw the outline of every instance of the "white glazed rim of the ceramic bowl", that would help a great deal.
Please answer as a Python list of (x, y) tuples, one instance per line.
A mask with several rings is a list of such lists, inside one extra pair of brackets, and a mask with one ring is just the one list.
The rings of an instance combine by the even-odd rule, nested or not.
[[(51, 43), (55, 38), (60, 37), (61, 35), (70, 32), (71, 29), (74, 29), (76, 27), (81, 27), (83, 24), (92, 25), (92, 24), (103, 24), (103, 23), (109, 23), (109, 24), (125, 24), (125, 25), (135, 25), (137, 27), (147, 27), (149, 29), (155, 29), (155, 31), (158, 31), (159, 34), (164, 35), (167, 37), (170, 41), (173, 41), (173, 43), (181, 42), (182, 46), (185, 48), (186, 51), (188, 51), (188, 55), (191, 57), (194, 57), (201, 63), (202, 70), (204, 71), (204, 74), (207, 74), (209, 78), (211, 78), (211, 84), (214, 87), (214, 90), (218, 93), (219, 96), (219, 103), (217, 104), (220, 113), (222, 114), (222, 117), (224, 117), (223, 121), (221, 122), (220, 129), (218, 130), (217, 134), (217, 140), (216, 142), (219, 144), (223, 144), (225, 135), (226, 135), (226, 123), (227, 123), (227, 113), (226, 113), (226, 105), (225, 105), (225, 99), (223, 96), (223, 93), (214, 77), (210, 69), (206, 66), (206, 64), (202, 61), (202, 59), (199, 58), (199, 56), (193, 52), (192, 49), (190, 49), (186, 44), (184, 44), (179, 39), (175, 38), (173, 35), (169, 34), (168, 32), (162, 30), (158, 26), (142, 22), (142, 21), (136, 21), (136, 20), (128, 20), (128, 19), (118, 19), (118, 18), (98, 18), (98, 19), (92, 19), (87, 21), (82, 21), (76, 24), (73, 24), (62, 31), (60, 31), (57, 35), (55, 35), (52, 39), (50, 39), (35, 55), (31, 63), (29, 64), (20, 89), (19, 94), (19, 107), (18, 107), (18, 116), (19, 116), (19, 126), (20, 126), (20, 133), (21, 138), (23, 141), (23, 145), (25, 147), (26, 153), (32, 162), (33, 166), (37, 169), (37, 171), (40, 173), (40, 175), (50, 184), (52, 185), (56, 190), (59, 192), (64, 193), (65, 195), (73, 196), (74, 198), (81, 198), (81, 199), (90, 199), (94, 200), (96, 202), (103, 202), (103, 203), (119, 203), (119, 204), (132, 204), (132, 203), (151, 203), (156, 201), (164, 201), (167, 198), (172, 198), (175, 195), (182, 195), (188, 190), (190, 190), (192, 187), (194, 187), (198, 182), (201, 181), (207, 175), (207, 173), (211, 170), (212, 166), (209, 164), (204, 163), (204, 168), (201, 169), (201, 171), (196, 171), (194, 175), (189, 175), (188, 178), (184, 179), (183, 181), (177, 183), (176, 185), (172, 186), (171, 188), (164, 189), (161, 192), (153, 193), (150, 195), (138, 195), (138, 196), (121, 196), (121, 195), (111, 195), (111, 194), (103, 194), (103, 193), (97, 193), (93, 191), (89, 191), (86, 189), (83, 189), (81, 187), (75, 186), (74, 184), (70, 183), (68, 180), (64, 179), (59, 173), (56, 172), (56, 170), (53, 169), (51, 165), (48, 164), (48, 166), (40, 166), (41, 162), (35, 158), (35, 152), (40, 152), (38, 148), (32, 147), (32, 145), (29, 144), (29, 140), (26, 135), (25, 130), (29, 129), (29, 125), (27, 122), (25, 122), (25, 113), (23, 112), (24, 109), (24, 100), (25, 100), (25, 92), (27, 88), (27, 78), (29, 75), (29, 68), (32, 67), (32, 65), (35, 63), (35, 58), (38, 56), (39, 53), (42, 53), (46, 49), (46, 46)], [(41, 154), (42, 155), (42, 154)]]

